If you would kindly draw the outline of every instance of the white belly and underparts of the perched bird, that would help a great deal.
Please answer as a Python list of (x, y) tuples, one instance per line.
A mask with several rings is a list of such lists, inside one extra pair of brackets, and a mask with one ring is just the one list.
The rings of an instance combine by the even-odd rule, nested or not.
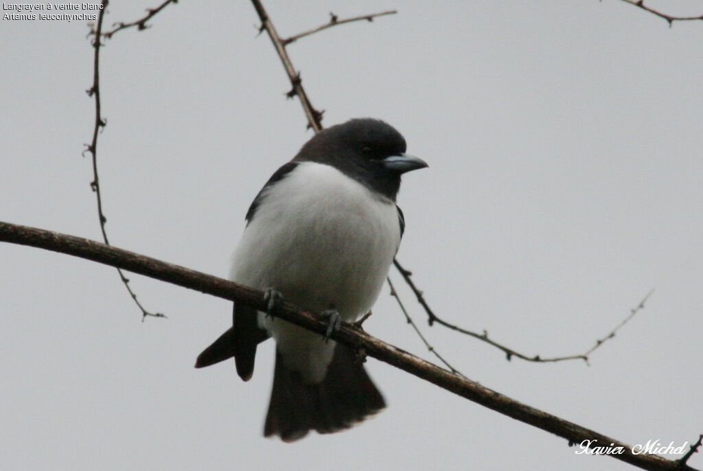
[[(231, 279), (355, 321), (378, 297), (399, 243), (394, 202), (333, 167), (304, 162), (259, 205), (235, 252)], [(311, 381), (323, 378), (334, 342), (280, 319), (259, 319), (290, 368)]]

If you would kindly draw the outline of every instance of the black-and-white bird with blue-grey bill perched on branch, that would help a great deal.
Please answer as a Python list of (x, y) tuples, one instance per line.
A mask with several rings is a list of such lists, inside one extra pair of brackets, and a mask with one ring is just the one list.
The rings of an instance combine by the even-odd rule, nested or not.
[(198, 356), (195, 368), (234, 357), (247, 381), (258, 344), (276, 340), (265, 437), (339, 432), (385, 408), (356, 351), (329, 336), (378, 298), (405, 231), (401, 175), (425, 167), (394, 127), (356, 118), (315, 134), (254, 198), (230, 279), (263, 290), (269, 311), (285, 299), (328, 323), (320, 335), (235, 302), (232, 327)]

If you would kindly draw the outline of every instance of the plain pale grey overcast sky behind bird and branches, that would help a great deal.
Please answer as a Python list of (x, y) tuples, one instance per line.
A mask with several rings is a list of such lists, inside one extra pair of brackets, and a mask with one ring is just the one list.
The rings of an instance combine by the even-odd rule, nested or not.
[[(276, 4), (274, 4), (276, 3)], [(110, 5), (106, 23), (155, 1)], [(399, 259), (432, 307), (526, 354), (439, 326), (472, 380), (628, 444), (703, 432), (703, 22), (621, 1), (308, 1), (266, 5), (282, 36), (392, 8), (289, 46), (324, 124), (378, 117), (430, 169), (404, 179)], [(652, 3), (703, 13), (701, 1)], [(180, 1), (101, 53), (98, 158), (117, 247), (226, 276), (244, 214), (311, 136), (247, 1)], [(99, 240), (82, 22), (2, 21), (0, 219)], [(273, 342), (249, 383), (195, 370), (228, 302), (0, 244), (0, 456), (8, 470), (626, 470), (369, 359), (388, 408), (340, 434), (264, 439)], [(388, 290), (369, 333), (428, 356)], [(678, 458), (670, 456), (669, 458)], [(703, 468), (700, 453), (690, 465)]]

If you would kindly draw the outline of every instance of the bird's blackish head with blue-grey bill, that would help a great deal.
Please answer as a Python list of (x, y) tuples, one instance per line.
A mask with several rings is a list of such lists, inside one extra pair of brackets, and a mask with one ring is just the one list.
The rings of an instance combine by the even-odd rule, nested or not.
[(395, 200), (401, 174), (427, 167), (418, 157), (406, 155), (405, 150), (405, 139), (394, 127), (381, 120), (360, 118), (319, 132), (294, 160), (332, 165)]

